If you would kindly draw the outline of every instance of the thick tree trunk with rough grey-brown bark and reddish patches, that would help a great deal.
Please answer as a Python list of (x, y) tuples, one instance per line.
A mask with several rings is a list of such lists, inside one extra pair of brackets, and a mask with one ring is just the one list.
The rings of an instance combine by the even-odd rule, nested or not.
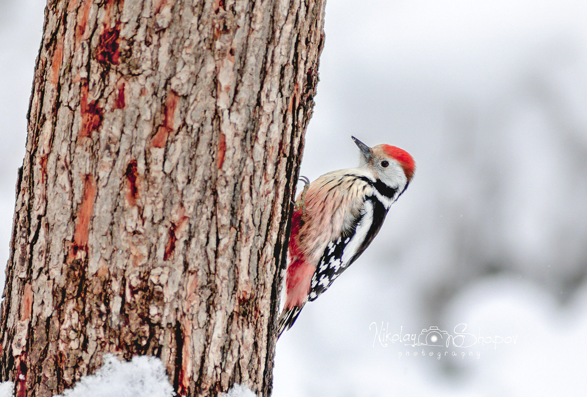
[(49, 0), (0, 368), (51, 396), (160, 357), (179, 395), (271, 394), (324, 0)]

